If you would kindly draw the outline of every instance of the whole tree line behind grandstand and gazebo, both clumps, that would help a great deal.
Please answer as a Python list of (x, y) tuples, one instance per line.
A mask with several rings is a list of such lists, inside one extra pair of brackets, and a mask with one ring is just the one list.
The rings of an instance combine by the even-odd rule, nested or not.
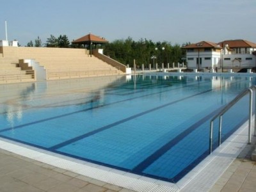
[[(184, 43), (182, 45), (174, 44), (170, 42), (152, 42), (141, 38), (138, 41), (132, 40), (131, 37), (122, 40), (114, 40), (108, 44), (97, 45), (99, 48), (104, 49), (104, 54), (117, 60), (124, 65), (133, 66), (134, 60), (136, 65), (141, 67), (144, 64), (145, 68), (149, 67), (161, 67), (161, 63), (164, 63), (166, 67), (167, 63), (182, 63), (186, 57), (186, 52), (182, 49), (182, 46), (189, 45), (190, 43)], [(32, 41), (28, 42), (28, 47), (61, 47), (61, 48), (84, 48), (84, 45), (71, 44), (67, 35), (60, 35), (57, 38), (51, 35), (47, 38), (45, 44), (42, 44), (39, 36), (35, 39), (35, 44)], [(94, 48), (98, 48), (94, 47)], [(86, 47), (85, 47), (86, 48)]]

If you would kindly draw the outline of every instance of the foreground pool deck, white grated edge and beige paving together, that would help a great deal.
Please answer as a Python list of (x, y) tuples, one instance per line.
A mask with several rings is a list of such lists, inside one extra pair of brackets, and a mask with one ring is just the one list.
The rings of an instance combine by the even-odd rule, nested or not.
[[(177, 184), (86, 163), (33, 147), (0, 141), (2, 191), (255, 191), (256, 164), (241, 159), (247, 124)], [(253, 137), (255, 140), (255, 137)], [(241, 157), (239, 157), (239, 154)], [(237, 156), (239, 159), (237, 159)], [(243, 173), (243, 174), (242, 174)], [(241, 177), (238, 177), (239, 175)], [(220, 177), (223, 175), (222, 177)], [(246, 179), (248, 178), (248, 180)], [(233, 180), (239, 182), (232, 184)], [(237, 189), (237, 190), (236, 190)], [(246, 190), (245, 190), (246, 189)]]

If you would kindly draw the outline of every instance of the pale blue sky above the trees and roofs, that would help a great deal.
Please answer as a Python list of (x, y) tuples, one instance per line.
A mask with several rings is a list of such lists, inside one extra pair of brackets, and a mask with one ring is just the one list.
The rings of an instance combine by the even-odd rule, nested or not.
[(256, 0), (1, 0), (0, 40), (92, 33), (171, 44), (243, 39), (256, 43)]

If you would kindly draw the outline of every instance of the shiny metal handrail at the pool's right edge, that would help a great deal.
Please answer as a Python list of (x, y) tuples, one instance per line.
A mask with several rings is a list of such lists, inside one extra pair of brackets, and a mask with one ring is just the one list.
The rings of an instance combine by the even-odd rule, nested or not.
[[(222, 125), (222, 115), (228, 111), (234, 104), (236, 104), (240, 99), (242, 99), (245, 95), (248, 93), (250, 94), (250, 103), (249, 103), (249, 124), (248, 124), (248, 144), (251, 143), (251, 131), (252, 131), (252, 96), (253, 96), (253, 89), (256, 89), (256, 86), (251, 86), (250, 88), (247, 88), (243, 92), (241, 92), (235, 99), (233, 99), (230, 103), (225, 106), (218, 114), (216, 114), (212, 119), (210, 123), (210, 138), (209, 138), (209, 153), (212, 153), (212, 134), (213, 134), (213, 121), (216, 118), (220, 118), (219, 121), (219, 132), (218, 132), (218, 146), (221, 145), (221, 125)], [(256, 123), (256, 118), (255, 118)], [(255, 124), (256, 125), (256, 124)], [(256, 134), (256, 129), (254, 130), (254, 135)]]

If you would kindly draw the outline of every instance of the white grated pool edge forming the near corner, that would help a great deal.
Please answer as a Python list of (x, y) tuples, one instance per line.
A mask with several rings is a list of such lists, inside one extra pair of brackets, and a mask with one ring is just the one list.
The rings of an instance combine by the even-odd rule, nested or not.
[(221, 147), (214, 150), (211, 156), (206, 157), (204, 161), (176, 184), (87, 163), (35, 147), (20, 145), (20, 143), (14, 141), (2, 139), (0, 140), (0, 148), (57, 168), (134, 191), (208, 191), (236, 159), (246, 146), (247, 141), (248, 122), (243, 124)]

